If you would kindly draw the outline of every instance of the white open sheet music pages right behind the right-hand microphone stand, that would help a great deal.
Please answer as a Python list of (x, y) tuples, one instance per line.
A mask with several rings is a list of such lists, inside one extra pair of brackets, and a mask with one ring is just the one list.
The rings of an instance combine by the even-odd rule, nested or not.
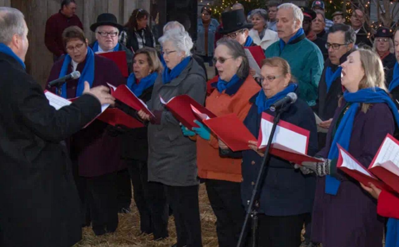
[[(269, 140), (269, 136), (273, 128), (273, 123), (265, 119), (262, 119), (261, 128), (262, 128), (261, 147), (265, 147), (267, 145), (267, 141)], [(272, 140), (272, 144), (273, 143), (286, 146), (287, 148), (295, 150), (296, 152), (299, 152), (301, 154), (306, 154), (307, 136), (289, 130), (288, 128), (283, 128), (277, 125), (275, 136), (273, 137)]]

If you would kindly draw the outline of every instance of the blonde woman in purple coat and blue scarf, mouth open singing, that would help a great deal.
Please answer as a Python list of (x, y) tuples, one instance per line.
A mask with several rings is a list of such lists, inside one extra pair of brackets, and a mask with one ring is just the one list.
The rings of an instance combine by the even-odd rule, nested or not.
[(323, 161), (302, 163), (318, 175), (311, 237), (323, 247), (381, 246), (383, 218), (376, 214), (374, 198), (337, 170), (337, 144), (367, 169), (386, 134), (393, 134), (399, 114), (387, 94), (376, 53), (358, 49), (341, 66), (346, 91), (328, 130), (326, 146), (316, 154)]

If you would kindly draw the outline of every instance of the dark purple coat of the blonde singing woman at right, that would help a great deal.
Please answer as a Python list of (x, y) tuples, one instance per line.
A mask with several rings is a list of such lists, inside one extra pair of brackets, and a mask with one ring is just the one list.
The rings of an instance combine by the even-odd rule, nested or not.
[[(331, 132), (342, 108), (338, 107), (326, 146), (317, 154), (327, 158), (331, 146)], [(369, 166), (387, 133), (393, 134), (395, 122), (388, 105), (377, 103), (367, 113), (359, 111), (354, 120), (349, 152), (365, 168)], [(312, 215), (312, 241), (323, 247), (377, 247), (382, 246), (383, 218), (377, 216), (377, 204), (371, 196), (340, 170), (338, 194), (324, 193), (325, 178), (318, 178)]]

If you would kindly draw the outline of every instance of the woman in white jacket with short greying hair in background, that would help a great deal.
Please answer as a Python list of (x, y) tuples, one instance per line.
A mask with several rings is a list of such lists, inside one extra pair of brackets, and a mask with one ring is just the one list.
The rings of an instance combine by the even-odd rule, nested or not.
[(269, 15), (264, 9), (255, 9), (251, 11), (250, 19), (253, 24), (253, 28), (249, 30), (249, 36), (253, 39), (253, 42), (260, 45), (262, 49), (267, 49), (269, 45), (279, 40), (277, 32), (267, 28), (267, 22), (269, 21)]

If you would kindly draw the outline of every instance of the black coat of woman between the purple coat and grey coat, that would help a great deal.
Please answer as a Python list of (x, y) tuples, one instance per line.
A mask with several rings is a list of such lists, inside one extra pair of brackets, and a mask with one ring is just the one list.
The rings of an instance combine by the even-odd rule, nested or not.
[[(160, 75), (159, 75), (160, 76)], [(140, 99), (147, 102), (151, 99), (152, 87), (144, 90), (140, 95)], [(128, 107), (123, 103), (119, 103), (118, 108), (136, 119), (137, 111)], [(148, 158), (148, 140), (147, 140), (147, 126), (142, 128), (126, 129), (122, 135), (122, 154), (123, 159), (140, 160), (147, 162)]]

